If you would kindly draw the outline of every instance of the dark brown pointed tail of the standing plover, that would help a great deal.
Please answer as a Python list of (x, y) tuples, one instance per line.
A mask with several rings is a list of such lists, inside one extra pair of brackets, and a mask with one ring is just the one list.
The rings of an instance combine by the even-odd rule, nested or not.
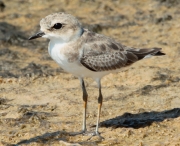
[(138, 60), (144, 59), (144, 58), (149, 58), (151, 56), (161, 56), (165, 55), (165, 53), (161, 52), (161, 48), (150, 48), (150, 49), (136, 49), (136, 48), (131, 48), (126, 50), (128, 52), (133, 53), (138, 57)]

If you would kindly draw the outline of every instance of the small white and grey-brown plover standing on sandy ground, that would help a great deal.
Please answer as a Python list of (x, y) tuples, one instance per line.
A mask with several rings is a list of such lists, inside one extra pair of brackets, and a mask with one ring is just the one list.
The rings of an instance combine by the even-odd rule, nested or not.
[(88, 94), (84, 77), (93, 78), (99, 88), (97, 124), (94, 132), (94, 135), (99, 135), (103, 102), (102, 77), (120, 71), (143, 58), (165, 55), (161, 48), (137, 49), (124, 46), (112, 38), (84, 29), (78, 19), (63, 12), (46, 16), (40, 21), (40, 27), (41, 31), (29, 40), (39, 37), (50, 39), (48, 52), (52, 59), (80, 80), (84, 102), (83, 126), (80, 133), (86, 132)]

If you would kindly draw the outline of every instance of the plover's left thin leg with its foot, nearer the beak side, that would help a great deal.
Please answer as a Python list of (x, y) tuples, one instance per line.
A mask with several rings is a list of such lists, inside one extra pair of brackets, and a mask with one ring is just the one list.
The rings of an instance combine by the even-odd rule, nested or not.
[(83, 91), (83, 102), (84, 102), (84, 111), (83, 111), (83, 125), (82, 125), (82, 131), (80, 132), (73, 132), (70, 135), (75, 136), (78, 134), (83, 134), (86, 132), (86, 110), (87, 110), (87, 98), (88, 98), (88, 94), (86, 91), (86, 87), (84, 84), (84, 80), (83, 78), (79, 78), (80, 83), (81, 83), (81, 87), (82, 87), (82, 91)]

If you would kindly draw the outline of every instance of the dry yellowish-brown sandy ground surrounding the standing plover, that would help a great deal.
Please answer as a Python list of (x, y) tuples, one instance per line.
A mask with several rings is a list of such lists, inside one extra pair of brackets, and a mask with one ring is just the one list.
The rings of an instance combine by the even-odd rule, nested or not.
[[(5, 4), (5, 8), (3, 6)], [(179, 0), (4, 0), (0, 2), (0, 145), (180, 145)], [(48, 40), (28, 41), (46, 15), (64, 11), (84, 27), (127, 46), (160, 47), (166, 56), (133, 64), (102, 79), (100, 133), (81, 130), (79, 80), (47, 52)], [(87, 129), (97, 118), (98, 88), (86, 79)]]

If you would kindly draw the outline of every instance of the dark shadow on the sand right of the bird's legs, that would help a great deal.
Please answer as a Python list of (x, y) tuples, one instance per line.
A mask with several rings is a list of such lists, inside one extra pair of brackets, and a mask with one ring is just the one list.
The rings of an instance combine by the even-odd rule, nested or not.
[(138, 114), (124, 113), (121, 116), (105, 120), (100, 123), (101, 127), (126, 127), (126, 128), (143, 128), (150, 126), (153, 122), (162, 122), (165, 119), (177, 118), (180, 116), (180, 108), (174, 108), (161, 112), (141, 112)]

